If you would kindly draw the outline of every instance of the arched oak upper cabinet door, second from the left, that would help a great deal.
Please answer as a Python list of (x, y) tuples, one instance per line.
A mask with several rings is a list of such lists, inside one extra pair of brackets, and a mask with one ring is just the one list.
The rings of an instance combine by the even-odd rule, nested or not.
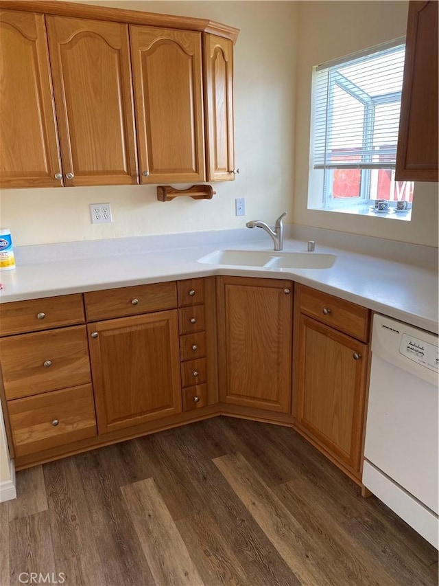
[(47, 16), (47, 31), (64, 184), (137, 183), (128, 25)]

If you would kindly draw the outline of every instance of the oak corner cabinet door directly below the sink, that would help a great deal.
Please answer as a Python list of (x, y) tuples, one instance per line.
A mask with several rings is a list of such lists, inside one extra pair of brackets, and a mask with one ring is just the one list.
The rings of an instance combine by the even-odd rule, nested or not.
[(220, 401), (290, 412), (291, 291), (289, 281), (218, 278)]

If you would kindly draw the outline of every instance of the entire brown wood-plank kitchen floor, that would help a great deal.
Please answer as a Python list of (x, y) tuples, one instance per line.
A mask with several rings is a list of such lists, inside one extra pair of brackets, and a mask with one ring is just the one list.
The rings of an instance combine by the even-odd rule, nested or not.
[(21, 572), (66, 586), (438, 583), (438, 552), (284, 427), (217, 417), (19, 472), (17, 488), (0, 505), (1, 586)]

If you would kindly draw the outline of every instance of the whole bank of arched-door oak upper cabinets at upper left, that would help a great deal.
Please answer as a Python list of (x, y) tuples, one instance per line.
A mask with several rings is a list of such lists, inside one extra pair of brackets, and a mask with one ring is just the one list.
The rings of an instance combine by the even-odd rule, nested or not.
[(0, 187), (234, 178), (237, 29), (61, 1), (1, 5), (12, 10), (0, 11)]

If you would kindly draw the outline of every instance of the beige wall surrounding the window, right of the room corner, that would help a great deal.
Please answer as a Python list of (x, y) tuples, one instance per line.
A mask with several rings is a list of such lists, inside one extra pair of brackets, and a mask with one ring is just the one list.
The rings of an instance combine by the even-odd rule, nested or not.
[(412, 221), (307, 210), (313, 65), (405, 35), (405, 1), (300, 1), (294, 223), (438, 246), (438, 184), (416, 183)]

